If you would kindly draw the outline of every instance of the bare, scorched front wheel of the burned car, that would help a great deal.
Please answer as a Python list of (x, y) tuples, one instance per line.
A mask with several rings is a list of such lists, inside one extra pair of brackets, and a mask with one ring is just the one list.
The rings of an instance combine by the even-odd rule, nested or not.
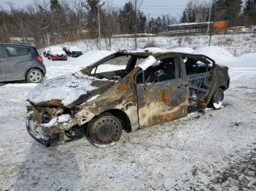
[(91, 143), (97, 147), (116, 144), (123, 131), (122, 122), (118, 117), (105, 113), (95, 117), (87, 126), (87, 134)]

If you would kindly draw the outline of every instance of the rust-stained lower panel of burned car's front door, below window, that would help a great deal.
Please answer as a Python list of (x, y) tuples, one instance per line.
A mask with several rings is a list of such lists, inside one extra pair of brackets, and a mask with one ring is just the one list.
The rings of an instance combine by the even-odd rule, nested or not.
[(140, 128), (187, 116), (188, 87), (184, 79), (137, 85)]

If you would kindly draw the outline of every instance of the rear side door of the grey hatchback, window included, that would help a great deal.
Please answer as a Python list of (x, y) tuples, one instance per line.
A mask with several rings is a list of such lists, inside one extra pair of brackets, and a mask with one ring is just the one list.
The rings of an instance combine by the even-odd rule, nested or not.
[(29, 47), (6, 45), (4, 52), (4, 71), (7, 81), (24, 79), (24, 74), (31, 65)]

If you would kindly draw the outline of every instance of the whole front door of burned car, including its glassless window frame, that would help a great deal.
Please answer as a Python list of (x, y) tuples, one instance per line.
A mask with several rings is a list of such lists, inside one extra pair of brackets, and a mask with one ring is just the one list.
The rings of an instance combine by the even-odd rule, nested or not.
[[(136, 90), (138, 97), (138, 116), (140, 128), (146, 128), (163, 122), (176, 120), (186, 117), (188, 113), (188, 82), (184, 67), (179, 58), (169, 57), (173, 66), (170, 69), (158, 68), (151, 66), (148, 68), (148, 74), (154, 75), (158, 71), (173, 73), (170, 77), (154, 82), (146, 82), (148, 78), (146, 71), (143, 71), (143, 83), (136, 77)], [(164, 58), (166, 60), (166, 58)], [(164, 61), (159, 58), (158, 63)], [(168, 61), (167, 61), (168, 62)], [(155, 67), (155, 71), (154, 71)]]

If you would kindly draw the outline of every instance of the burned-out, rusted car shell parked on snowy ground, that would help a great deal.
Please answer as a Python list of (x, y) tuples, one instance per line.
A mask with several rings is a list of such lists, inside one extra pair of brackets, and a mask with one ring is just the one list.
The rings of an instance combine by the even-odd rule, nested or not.
[(29, 134), (45, 146), (89, 136), (113, 144), (123, 130), (147, 128), (222, 106), (228, 68), (206, 55), (116, 52), (29, 93)]

